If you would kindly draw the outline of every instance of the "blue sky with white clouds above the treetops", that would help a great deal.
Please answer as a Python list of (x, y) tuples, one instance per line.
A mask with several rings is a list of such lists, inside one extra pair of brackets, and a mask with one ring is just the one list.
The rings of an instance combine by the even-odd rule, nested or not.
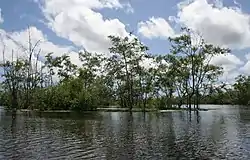
[(250, 73), (247, 0), (1, 0), (0, 52), (7, 59), (12, 53), (26, 56), (30, 35), (33, 44), (39, 41), (41, 63), (53, 52), (68, 53), (80, 65), (79, 50), (108, 54), (109, 35), (132, 32), (151, 54), (168, 54), (168, 37), (180, 34), (182, 26), (208, 43), (232, 49), (212, 60), (224, 69), (221, 81)]

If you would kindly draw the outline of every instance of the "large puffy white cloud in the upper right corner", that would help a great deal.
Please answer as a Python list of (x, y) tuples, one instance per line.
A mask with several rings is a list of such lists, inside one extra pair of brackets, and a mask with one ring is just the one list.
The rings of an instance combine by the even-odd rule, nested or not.
[(208, 42), (237, 49), (250, 47), (250, 16), (239, 7), (225, 7), (221, 0), (188, 0), (178, 7), (175, 21), (201, 33)]

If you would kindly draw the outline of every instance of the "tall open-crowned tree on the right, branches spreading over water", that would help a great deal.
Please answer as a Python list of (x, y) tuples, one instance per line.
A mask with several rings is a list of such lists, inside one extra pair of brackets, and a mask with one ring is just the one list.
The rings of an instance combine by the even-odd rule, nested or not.
[(230, 50), (207, 44), (201, 36), (187, 28), (183, 31), (183, 35), (169, 39), (172, 46), (170, 63), (181, 83), (184, 83), (181, 87), (184, 87), (187, 105), (191, 109), (193, 103), (198, 108), (201, 94), (206, 93), (207, 86), (212, 85), (222, 73), (221, 67), (211, 64), (211, 59)]

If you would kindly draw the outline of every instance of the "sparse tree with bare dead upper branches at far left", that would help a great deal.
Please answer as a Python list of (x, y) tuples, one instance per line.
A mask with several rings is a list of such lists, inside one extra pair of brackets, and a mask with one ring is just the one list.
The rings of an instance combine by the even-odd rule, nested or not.
[[(38, 57), (40, 50), (37, 49), (40, 41), (32, 43), (31, 33), (28, 30), (28, 44), (27, 47), (16, 42), (11, 37), (6, 35), (7, 38), (12, 40), (17, 46), (20, 47), (21, 55), (26, 55), (26, 57), (18, 57), (19, 52), (15, 52), (12, 49), (11, 58), (6, 58), (6, 45), (3, 39), (3, 61), (1, 62), (1, 68), (3, 69), (3, 86), (6, 93), (9, 93), (8, 105), (11, 106), (13, 110), (19, 107), (27, 107), (32, 97), (32, 91), (37, 87), (40, 77), (38, 74)], [(17, 55), (15, 55), (17, 54)], [(20, 92), (22, 90), (22, 93)], [(21, 99), (23, 99), (21, 101)]]

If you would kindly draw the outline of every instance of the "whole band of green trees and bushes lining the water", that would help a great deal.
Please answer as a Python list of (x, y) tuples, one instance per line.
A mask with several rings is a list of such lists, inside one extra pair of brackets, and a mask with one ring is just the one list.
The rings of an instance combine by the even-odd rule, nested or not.
[(42, 111), (248, 105), (250, 77), (240, 75), (228, 86), (218, 82), (223, 68), (211, 64), (214, 56), (230, 50), (208, 44), (200, 36), (194, 40), (187, 28), (182, 31), (169, 38), (171, 48), (165, 55), (149, 54), (137, 38), (109, 36), (110, 54), (79, 52), (81, 66), (67, 54), (53, 53), (40, 66), (38, 45), (31, 43), (27, 58), (7, 60), (3, 51), (1, 105)]

